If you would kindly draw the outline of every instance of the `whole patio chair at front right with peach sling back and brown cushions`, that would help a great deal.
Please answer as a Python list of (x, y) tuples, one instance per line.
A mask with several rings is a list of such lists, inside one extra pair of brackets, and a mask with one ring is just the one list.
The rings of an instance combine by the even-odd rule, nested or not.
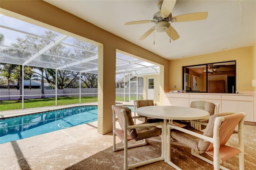
[[(168, 124), (168, 162), (170, 162), (170, 144), (176, 144), (191, 148), (192, 155), (212, 164), (214, 170), (226, 169), (220, 164), (239, 154), (240, 170), (244, 169), (243, 126), (245, 117), (245, 113), (219, 113), (210, 116), (208, 124), (196, 121), (196, 123), (207, 125), (204, 132), (189, 126), (181, 128)], [(238, 125), (238, 130), (235, 130), (236, 125)], [(238, 148), (225, 145), (232, 134), (238, 134)], [(210, 155), (213, 161), (200, 155), (204, 152)]]

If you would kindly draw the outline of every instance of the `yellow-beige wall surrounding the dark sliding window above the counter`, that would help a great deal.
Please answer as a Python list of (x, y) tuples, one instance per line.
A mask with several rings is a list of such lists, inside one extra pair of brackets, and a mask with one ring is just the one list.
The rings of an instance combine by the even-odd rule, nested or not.
[[(255, 50), (255, 47), (254, 47)], [(254, 59), (254, 61), (253, 61)], [(214, 63), (222, 61), (236, 60), (236, 90), (253, 91), (252, 86), (253, 71), (255, 74), (255, 53), (253, 57), (253, 47), (240, 47), (215, 53), (175, 59), (169, 62), (170, 65), (170, 90), (182, 89), (182, 66)], [(254, 67), (253, 67), (254, 63)], [(177, 86), (174, 89), (174, 85)]]

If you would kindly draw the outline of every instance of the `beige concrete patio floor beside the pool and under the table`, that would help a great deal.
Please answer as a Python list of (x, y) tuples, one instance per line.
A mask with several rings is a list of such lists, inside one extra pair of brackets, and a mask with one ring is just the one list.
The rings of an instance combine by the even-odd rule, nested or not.
[[(118, 123), (117, 123), (118, 125)], [(256, 166), (255, 131), (256, 126), (245, 125), (245, 169)], [(123, 150), (113, 152), (112, 132), (97, 133), (97, 122), (65, 128), (30, 138), (0, 144), (1, 170), (118, 170), (123, 166)], [(116, 138), (119, 146), (121, 141)], [(132, 142), (132, 141), (130, 141)], [(237, 135), (233, 135), (229, 145), (236, 146)], [(206, 169), (213, 166), (192, 156), (189, 148), (172, 146), (172, 162), (182, 169)], [(161, 143), (149, 141), (146, 146), (128, 150), (128, 163), (156, 158), (161, 155)], [(206, 156), (206, 155), (205, 155)], [(232, 170), (238, 170), (238, 156), (223, 163)], [(165, 170), (174, 169), (160, 161), (136, 169)]]

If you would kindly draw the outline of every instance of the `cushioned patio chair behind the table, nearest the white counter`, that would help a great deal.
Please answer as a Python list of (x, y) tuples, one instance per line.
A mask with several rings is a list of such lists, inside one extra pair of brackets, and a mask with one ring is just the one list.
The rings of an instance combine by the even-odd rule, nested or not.
[[(191, 108), (196, 108), (196, 109), (202, 109), (205, 111), (208, 111), (210, 115), (214, 114), (215, 108), (216, 108), (216, 113), (219, 113), (219, 108), (220, 108), (220, 104), (218, 103), (211, 103), (208, 101), (192, 101), (190, 103), (190, 107)], [(201, 119), (198, 121), (207, 121), (208, 119)], [(180, 121), (180, 120), (175, 120), (173, 121), (175, 125), (178, 125), (180, 127), (184, 127), (186, 125), (188, 126), (192, 126), (197, 128), (198, 130), (201, 130), (201, 125), (200, 124), (196, 124), (194, 122), (191, 121)]]

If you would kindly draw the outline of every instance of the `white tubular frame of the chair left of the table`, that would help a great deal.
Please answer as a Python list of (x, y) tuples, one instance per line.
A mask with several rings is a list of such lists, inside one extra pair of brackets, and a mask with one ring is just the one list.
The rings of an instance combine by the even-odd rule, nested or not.
[[(113, 108), (113, 106), (112, 106), (112, 108)], [(124, 129), (124, 140), (122, 141), (124, 146), (116, 147), (115, 130), (116, 130), (116, 121), (117, 121), (117, 119), (116, 119), (116, 114), (114, 113), (114, 110), (113, 110), (113, 151), (115, 152), (115, 151), (118, 151), (118, 150), (124, 150), (124, 170), (132, 169), (132, 168), (136, 168), (138, 166), (143, 166), (143, 165), (146, 165), (146, 164), (151, 164), (151, 163), (154, 163), (154, 162), (164, 160), (164, 138), (161, 135), (162, 154), (161, 154), (160, 157), (154, 158), (154, 159), (151, 159), (151, 160), (145, 160), (143, 162), (138, 162), (138, 163), (135, 163), (135, 164), (130, 164), (130, 165), (127, 164), (127, 149), (128, 148), (134, 148), (134, 147), (137, 147), (137, 146), (144, 146), (144, 145), (148, 144), (147, 139), (144, 139), (142, 143), (128, 145), (127, 130), (128, 129), (133, 129), (133, 128), (153, 127), (153, 126), (161, 125), (162, 126), (162, 132), (164, 132), (164, 123), (162, 123), (162, 122), (161, 123), (149, 123), (149, 124), (129, 126), (129, 125), (127, 125), (126, 116), (124, 116), (126, 114), (126, 111), (124, 109), (121, 109), (121, 112), (122, 112), (122, 115), (123, 115), (123, 118), (124, 118), (124, 127), (123, 127), (123, 129)], [(137, 116), (137, 117), (132, 117), (132, 118), (133, 119), (138, 119), (138, 118), (142, 118), (142, 116)], [(151, 138), (151, 139), (153, 139), (153, 138)], [(159, 141), (159, 140), (156, 139), (155, 141)]]

